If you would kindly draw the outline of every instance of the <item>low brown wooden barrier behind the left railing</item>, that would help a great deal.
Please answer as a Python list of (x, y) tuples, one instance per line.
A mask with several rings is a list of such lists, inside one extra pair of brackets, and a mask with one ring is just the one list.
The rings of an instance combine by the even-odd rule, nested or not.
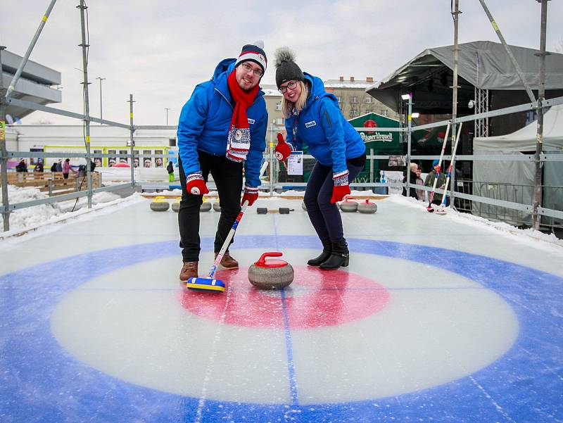
[[(76, 177), (72, 172), (64, 179), (63, 172), (9, 172), (8, 184), (16, 187), (36, 187), (49, 196), (69, 194), (88, 189), (87, 177)], [(92, 188), (101, 188), (101, 173), (92, 172)]]

